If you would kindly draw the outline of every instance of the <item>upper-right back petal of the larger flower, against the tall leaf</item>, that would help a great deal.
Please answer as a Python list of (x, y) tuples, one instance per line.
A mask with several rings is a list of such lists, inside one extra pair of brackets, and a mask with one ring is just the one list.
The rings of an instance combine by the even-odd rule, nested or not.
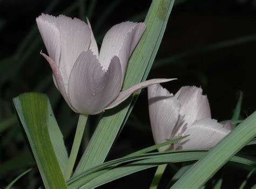
[(99, 61), (106, 69), (114, 55), (120, 59), (124, 78), (127, 61), (146, 29), (144, 23), (124, 22), (111, 27), (100, 48)]

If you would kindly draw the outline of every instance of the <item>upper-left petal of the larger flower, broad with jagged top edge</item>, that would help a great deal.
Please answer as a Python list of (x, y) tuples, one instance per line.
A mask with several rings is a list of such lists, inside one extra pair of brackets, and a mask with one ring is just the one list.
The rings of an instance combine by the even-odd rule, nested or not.
[[(42, 31), (41, 34), (44, 31), (47, 31), (42, 34), (42, 37), (46, 38), (49, 36), (48, 38), (51, 39), (48, 41), (48, 43), (46, 43), (44, 40), (44, 43), (50, 57), (59, 67), (59, 72), (62, 75), (64, 86), (67, 90), (69, 75), (76, 59), (80, 53), (89, 49), (91, 41), (91, 30), (89, 29), (89, 26), (82, 20), (77, 18), (72, 19), (64, 15), (54, 17), (42, 14), (37, 18), (37, 24), (39, 31)], [(57, 36), (56, 30), (59, 32), (60, 41), (55, 40)], [(56, 46), (60, 46), (60, 50), (58, 50)], [(53, 50), (56, 48), (56, 51), (58, 50), (57, 52), (60, 51), (60, 57), (57, 57), (57, 55), (56, 57), (52, 57), (52, 53), (50, 54), (50, 47)]]

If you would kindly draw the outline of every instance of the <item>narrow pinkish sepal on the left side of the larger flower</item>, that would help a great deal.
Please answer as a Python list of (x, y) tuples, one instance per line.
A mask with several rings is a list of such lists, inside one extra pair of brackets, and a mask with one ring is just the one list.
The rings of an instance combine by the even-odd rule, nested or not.
[(49, 62), (49, 65), (51, 66), (52, 69), (52, 73), (53, 73), (53, 80), (55, 82), (56, 87), (58, 88), (59, 92), (62, 94), (62, 96), (64, 97), (66, 103), (69, 104), (69, 107), (73, 110), (76, 111), (77, 110), (71, 105), (69, 98), (68, 98), (68, 94), (66, 94), (66, 90), (64, 87), (64, 83), (62, 80), (62, 76), (59, 73), (59, 69), (57, 67), (57, 65), (55, 64), (55, 62), (48, 57), (48, 55), (41, 53), (43, 55), (43, 57)]

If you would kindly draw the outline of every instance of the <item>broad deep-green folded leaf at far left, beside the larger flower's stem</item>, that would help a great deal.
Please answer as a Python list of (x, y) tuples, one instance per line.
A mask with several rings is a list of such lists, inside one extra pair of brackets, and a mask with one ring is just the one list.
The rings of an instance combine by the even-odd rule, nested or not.
[(67, 188), (48, 131), (48, 121), (52, 121), (48, 120), (48, 103), (48, 97), (39, 93), (24, 93), (14, 99), (45, 187)]

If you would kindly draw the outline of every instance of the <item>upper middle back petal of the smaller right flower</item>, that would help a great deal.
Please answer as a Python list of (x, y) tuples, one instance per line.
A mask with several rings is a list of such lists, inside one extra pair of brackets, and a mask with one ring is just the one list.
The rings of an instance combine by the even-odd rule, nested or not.
[(181, 104), (180, 115), (184, 117), (187, 127), (203, 118), (211, 118), (211, 109), (206, 95), (202, 95), (203, 90), (195, 86), (181, 87), (175, 94)]

